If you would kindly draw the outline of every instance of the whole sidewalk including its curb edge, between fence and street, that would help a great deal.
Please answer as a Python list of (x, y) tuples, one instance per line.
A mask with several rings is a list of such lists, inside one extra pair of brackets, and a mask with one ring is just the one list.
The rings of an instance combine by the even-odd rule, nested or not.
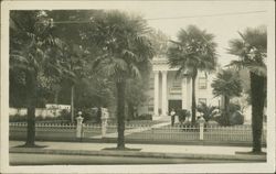
[[(115, 151), (104, 149), (116, 148), (116, 143), (38, 141), (38, 145), (46, 145), (46, 148), (14, 148), (23, 143), (22, 141), (10, 141), (10, 153), (266, 161), (266, 155), (235, 154), (236, 152), (251, 151), (251, 148), (244, 146), (126, 144), (127, 148), (136, 149), (136, 151)], [(266, 149), (263, 149), (263, 151), (266, 152)]]

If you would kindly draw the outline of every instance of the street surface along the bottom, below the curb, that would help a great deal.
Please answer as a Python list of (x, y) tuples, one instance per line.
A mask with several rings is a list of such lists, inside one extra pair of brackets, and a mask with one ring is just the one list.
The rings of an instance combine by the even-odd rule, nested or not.
[(192, 164), (192, 163), (237, 163), (237, 161), (10, 153), (10, 165), (68, 165), (68, 164), (110, 165), (110, 164)]

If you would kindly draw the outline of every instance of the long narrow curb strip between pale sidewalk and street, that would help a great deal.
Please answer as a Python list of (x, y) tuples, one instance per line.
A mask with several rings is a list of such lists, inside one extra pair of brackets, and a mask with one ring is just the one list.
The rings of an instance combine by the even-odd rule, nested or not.
[(65, 154), (65, 155), (104, 155), (104, 156), (131, 156), (131, 157), (158, 157), (158, 159), (198, 159), (198, 160), (236, 160), (266, 162), (266, 155), (221, 155), (221, 154), (192, 154), (192, 153), (160, 153), (137, 151), (87, 151), (87, 150), (56, 150), (56, 149), (29, 149), (10, 148), (10, 153), (36, 153), (36, 154)]

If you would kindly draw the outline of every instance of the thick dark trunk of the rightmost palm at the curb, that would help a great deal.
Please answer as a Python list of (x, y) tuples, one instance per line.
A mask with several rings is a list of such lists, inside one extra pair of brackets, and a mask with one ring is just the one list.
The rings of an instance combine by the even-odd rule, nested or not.
[(253, 152), (262, 151), (263, 115), (265, 105), (265, 77), (251, 72)]

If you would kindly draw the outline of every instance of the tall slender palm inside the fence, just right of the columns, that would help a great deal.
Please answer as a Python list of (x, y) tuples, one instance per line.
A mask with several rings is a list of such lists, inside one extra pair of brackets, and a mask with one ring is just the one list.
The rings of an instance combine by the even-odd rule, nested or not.
[(169, 64), (177, 67), (177, 76), (187, 76), (192, 79), (192, 123), (195, 123), (195, 78), (199, 70), (212, 72), (216, 67), (216, 43), (214, 35), (189, 25), (181, 29), (178, 41), (171, 41), (168, 50)]

